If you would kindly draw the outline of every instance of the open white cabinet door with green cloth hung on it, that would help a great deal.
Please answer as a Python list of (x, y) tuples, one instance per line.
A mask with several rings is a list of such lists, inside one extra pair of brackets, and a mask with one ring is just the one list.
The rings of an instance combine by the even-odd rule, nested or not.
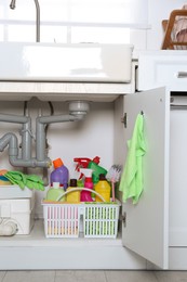
[(132, 138), (137, 114), (144, 113), (147, 152), (143, 157), (144, 191), (136, 205), (123, 204), (123, 245), (160, 268), (168, 268), (169, 253), (169, 134), (170, 93), (165, 88), (124, 97), (126, 128)]

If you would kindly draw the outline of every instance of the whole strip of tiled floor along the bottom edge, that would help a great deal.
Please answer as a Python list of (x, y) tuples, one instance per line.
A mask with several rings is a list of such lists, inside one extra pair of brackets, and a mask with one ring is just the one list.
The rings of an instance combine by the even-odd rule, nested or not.
[(0, 282), (185, 282), (187, 271), (0, 271)]

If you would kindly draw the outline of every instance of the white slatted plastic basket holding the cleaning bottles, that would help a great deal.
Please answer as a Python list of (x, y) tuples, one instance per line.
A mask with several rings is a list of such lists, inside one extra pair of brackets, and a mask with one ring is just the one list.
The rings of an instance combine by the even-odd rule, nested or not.
[(42, 205), (46, 238), (78, 238), (82, 218), (84, 238), (117, 236), (119, 201), (80, 204), (43, 201)]

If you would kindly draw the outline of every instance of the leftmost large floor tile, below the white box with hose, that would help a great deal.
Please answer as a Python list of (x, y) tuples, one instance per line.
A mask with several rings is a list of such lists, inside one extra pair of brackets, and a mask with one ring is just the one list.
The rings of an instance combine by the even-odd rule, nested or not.
[(3, 282), (54, 282), (55, 271), (6, 271)]

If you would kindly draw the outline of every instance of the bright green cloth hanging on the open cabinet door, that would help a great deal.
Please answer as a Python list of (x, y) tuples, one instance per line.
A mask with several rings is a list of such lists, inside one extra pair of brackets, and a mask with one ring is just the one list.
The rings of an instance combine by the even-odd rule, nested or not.
[(128, 148), (119, 190), (122, 192), (123, 202), (132, 197), (133, 204), (137, 204), (143, 192), (143, 156), (146, 153), (144, 116), (141, 114), (137, 115), (132, 139), (128, 141)]

